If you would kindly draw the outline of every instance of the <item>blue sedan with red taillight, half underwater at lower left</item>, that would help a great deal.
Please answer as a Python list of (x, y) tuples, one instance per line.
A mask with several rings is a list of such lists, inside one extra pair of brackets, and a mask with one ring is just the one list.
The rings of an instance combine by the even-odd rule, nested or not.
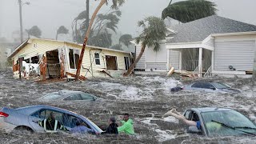
[(56, 120), (70, 130), (75, 126), (75, 122), (84, 122), (86, 126), (95, 133), (102, 133), (102, 130), (91, 122), (88, 118), (71, 112), (69, 110), (60, 109), (54, 106), (27, 106), (18, 109), (2, 108), (0, 110), (0, 129), (7, 132), (13, 130), (28, 130), (30, 132), (45, 132), (44, 128), (38, 125), (38, 121), (48, 118), (50, 113), (55, 114)]

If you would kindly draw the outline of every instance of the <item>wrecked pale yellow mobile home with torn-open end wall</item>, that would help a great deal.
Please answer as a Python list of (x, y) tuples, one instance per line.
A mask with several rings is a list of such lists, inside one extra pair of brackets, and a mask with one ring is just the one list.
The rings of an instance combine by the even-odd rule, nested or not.
[[(14, 75), (71, 78), (76, 74), (82, 45), (50, 39), (30, 38), (18, 46), (9, 58)], [(130, 66), (130, 52), (86, 46), (82, 60), (82, 78), (119, 77)]]

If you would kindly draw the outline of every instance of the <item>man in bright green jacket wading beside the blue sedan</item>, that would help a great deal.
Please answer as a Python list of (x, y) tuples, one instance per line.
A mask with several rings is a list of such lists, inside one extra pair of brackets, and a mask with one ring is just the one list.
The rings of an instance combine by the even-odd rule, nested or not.
[(135, 134), (134, 133), (134, 122), (129, 118), (129, 114), (124, 114), (122, 118), (122, 126), (118, 127), (118, 133)]

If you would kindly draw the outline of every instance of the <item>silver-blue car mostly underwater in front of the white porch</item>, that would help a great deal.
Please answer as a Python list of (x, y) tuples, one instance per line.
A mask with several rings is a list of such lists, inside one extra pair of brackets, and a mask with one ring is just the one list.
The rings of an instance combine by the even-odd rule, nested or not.
[(221, 93), (240, 93), (241, 90), (231, 88), (221, 82), (194, 82), (188, 86), (175, 87), (171, 91), (176, 92), (180, 90), (201, 90), (206, 92), (221, 92)]

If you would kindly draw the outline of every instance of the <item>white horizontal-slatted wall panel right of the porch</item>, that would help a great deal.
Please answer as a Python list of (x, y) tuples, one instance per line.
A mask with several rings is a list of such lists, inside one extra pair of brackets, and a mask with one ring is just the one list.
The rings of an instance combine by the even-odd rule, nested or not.
[(255, 37), (215, 38), (214, 70), (253, 70)]

